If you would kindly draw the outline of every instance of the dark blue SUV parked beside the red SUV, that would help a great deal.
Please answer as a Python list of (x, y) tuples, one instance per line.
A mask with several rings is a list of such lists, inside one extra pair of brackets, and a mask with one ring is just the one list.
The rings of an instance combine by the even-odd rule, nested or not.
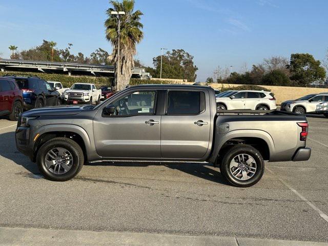
[(47, 81), (39, 77), (16, 77), (15, 79), (20, 90), (23, 91), (24, 109), (41, 108), (44, 106), (61, 105), (60, 94), (53, 89)]

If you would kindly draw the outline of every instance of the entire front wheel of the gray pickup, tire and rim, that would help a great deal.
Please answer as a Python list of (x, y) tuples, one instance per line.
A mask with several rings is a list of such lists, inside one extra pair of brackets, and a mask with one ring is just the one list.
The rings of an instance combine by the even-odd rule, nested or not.
[(56, 137), (45, 142), (37, 152), (39, 171), (52, 181), (67, 181), (75, 177), (83, 167), (81, 147), (72, 139)]

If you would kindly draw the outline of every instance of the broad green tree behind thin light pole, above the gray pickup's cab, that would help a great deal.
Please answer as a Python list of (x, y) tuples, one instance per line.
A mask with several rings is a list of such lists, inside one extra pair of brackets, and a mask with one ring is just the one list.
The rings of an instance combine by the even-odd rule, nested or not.
[[(162, 78), (178, 78), (188, 81), (196, 80), (198, 68), (194, 65), (193, 56), (183, 49), (168, 51), (162, 57)], [(155, 77), (160, 76), (160, 55), (153, 58)]]

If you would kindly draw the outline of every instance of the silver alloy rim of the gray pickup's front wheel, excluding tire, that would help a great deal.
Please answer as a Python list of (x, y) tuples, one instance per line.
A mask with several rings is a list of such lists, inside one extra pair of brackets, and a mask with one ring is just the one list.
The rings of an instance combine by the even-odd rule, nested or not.
[(45, 163), (50, 172), (60, 175), (72, 168), (73, 156), (67, 149), (57, 147), (47, 152)]

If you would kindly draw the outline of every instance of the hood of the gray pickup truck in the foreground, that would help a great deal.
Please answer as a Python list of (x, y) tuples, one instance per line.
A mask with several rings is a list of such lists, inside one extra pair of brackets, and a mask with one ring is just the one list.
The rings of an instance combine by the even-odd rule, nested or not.
[(37, 108), (24, 112), (23, 116), (51, 116), (51, 115), (75, 115), (84, 110), (85, 105), (75, 106), (57, 106), (57, 107), (48, 107), (48, 108)]

